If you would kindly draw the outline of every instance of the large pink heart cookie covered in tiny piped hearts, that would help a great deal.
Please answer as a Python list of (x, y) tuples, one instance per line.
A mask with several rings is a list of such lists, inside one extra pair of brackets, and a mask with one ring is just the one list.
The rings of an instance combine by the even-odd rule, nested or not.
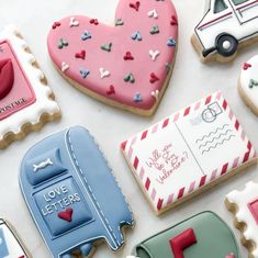
[(170, 0), (120, 0), (113, 26), (78, 15), (55, 22), (48, 51), (57, 70), (80, 91), (152, 115), (169, 83), (177, 37)]

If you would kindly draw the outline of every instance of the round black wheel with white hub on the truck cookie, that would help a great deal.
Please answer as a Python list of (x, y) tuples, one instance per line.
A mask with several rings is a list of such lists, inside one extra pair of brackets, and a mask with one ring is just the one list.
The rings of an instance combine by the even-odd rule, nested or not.
[(217, 53), (225, 57), (234, 55), (237, 51), (237, 40), (231, 35), (222, 35), (216, 40)]

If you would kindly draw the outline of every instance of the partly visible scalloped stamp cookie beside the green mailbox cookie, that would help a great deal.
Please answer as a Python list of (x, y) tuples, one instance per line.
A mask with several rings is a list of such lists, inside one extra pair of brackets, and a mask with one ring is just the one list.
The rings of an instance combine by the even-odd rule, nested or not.
[(235, 216), (235, 226), (242, 232), (243, 244), (250, 258), (258, 257), (258, 184), (248, 182), (244, 190), (226, 195), (226, 206)]

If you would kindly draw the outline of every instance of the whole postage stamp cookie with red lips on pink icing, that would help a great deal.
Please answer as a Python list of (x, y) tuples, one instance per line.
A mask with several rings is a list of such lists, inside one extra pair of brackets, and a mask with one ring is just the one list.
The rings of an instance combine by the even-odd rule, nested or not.
[(0, 148), (59, 117), (46, 78), (15, 26), (0, 33)]

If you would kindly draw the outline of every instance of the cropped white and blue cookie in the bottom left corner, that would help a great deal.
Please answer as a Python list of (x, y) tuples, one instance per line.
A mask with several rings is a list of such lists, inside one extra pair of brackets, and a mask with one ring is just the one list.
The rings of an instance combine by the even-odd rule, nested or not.
[(29, 258), (11, 226), (0, 218), (0, 257), (1, 258)]

